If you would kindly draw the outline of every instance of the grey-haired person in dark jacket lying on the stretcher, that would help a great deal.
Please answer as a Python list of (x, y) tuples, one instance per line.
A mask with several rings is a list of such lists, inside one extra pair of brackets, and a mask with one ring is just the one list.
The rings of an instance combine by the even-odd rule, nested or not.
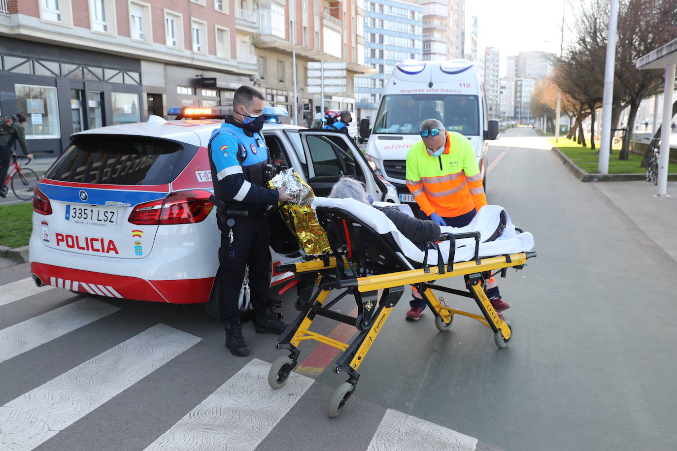
[[(332, 187), (332, 192), (328, 197), (335, 199), (355, 199), (362, 204), (372, 204), (374, 198), (367, 194), (364, 183), (351, 179), (350, 177), (341, 177)], [(402, 212), (396, 206), (374, 206), (382, 211), (389, 220), (393, 221), (397, 230), (400, 231), (409, 241), (424, 248), (428, 241), (433, 241), (439, 237), (439, 225), (431, 220), (420, 220)]]

